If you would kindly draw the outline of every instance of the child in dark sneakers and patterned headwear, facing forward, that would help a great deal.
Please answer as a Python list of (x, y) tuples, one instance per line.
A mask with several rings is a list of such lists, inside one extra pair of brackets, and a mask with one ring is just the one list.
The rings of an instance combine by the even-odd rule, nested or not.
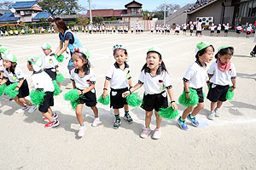
[(108, 84), (110, 82), (110, 107), (113, 107), (115, 121), (113, 128), (119, 128), (121, 124), (119, 109), (125, 109), (124, 119), (128, 123), (132, 123), (133, 120), (129, 114), (129, 106), (127, 105), (126, 99), (122, 97), (122, 94), (132, 86), (131, 84), (131, 68), (125, 62), (128, 57), (126, 48), (124, 45), (117, 44), (113, 46), (113, 58), (116, 62), (110, 66), (104, 82), (102, 97), (105, 99), (108, 95)]

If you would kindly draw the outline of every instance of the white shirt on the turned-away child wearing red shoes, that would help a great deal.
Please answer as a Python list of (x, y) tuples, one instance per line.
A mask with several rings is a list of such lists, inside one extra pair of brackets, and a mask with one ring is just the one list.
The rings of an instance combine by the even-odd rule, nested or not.
[(55, 87), (49, 75), (44, 71), (33, 72), (32, 83), (36, 89), (42, 89), (44, 92), (54, 92)]

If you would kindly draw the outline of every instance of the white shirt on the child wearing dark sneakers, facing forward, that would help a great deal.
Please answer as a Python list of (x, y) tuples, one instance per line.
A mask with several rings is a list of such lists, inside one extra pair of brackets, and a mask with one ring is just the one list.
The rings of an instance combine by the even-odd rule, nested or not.
[(109, 67), (106, 79), (110, 81), (110, 88), (128, 88), (128, 80), (131, 79), (131, 68), (125, 63), (125, 69), (122, 70), (119, 68), (118, 63), (115, 62)]

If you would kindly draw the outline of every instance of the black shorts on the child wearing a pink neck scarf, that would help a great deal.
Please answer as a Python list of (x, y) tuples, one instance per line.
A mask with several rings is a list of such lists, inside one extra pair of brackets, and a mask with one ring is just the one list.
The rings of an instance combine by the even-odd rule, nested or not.
[(221, 86), (217, 84), (211, 83), (209, 92), (207, 94), (207, 99), (209, 99), (212, 102), (219, 101), (226, 101), (226, 95), (228, 93), (230, 86)]

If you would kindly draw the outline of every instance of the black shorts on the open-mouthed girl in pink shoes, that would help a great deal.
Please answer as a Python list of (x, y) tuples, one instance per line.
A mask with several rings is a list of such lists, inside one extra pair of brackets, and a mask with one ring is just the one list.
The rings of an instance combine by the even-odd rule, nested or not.
[(166, 91), (160, 94), (147, 94), (143, 96), (142, 108), (145, 111), (159, 111), (159, 109), (168, 107), (168, 99)]

